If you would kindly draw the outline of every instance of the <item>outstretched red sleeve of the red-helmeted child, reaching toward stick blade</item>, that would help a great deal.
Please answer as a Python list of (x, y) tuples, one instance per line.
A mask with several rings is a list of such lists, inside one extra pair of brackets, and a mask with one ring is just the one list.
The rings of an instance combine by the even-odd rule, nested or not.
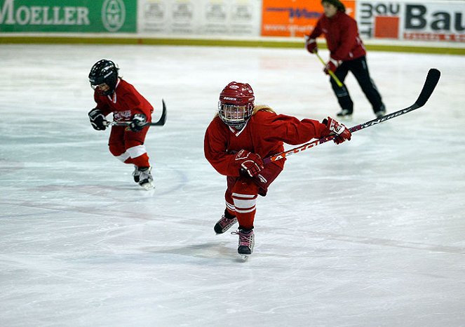
[(290, 145), (309, 142), (312, 138), (322, 138), (328, 135), (324, 124), (314, 119), (302, 119), (285, 114), (257, 112), (265, 140), (282, 141)]

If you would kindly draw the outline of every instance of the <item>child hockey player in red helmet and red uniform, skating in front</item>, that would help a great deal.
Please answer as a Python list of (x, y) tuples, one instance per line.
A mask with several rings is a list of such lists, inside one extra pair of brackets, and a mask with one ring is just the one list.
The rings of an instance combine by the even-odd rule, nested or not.
[(283, 142), (299, 145), (330, 134), (337, 135), (337, 144), (351, 139), (349, 129), (330, 117), (320, 123), (276, 114), (270, 107), (255, 105), (249, 84), (229, 83), (220, 93), (218, 113), (204, 140), (205, 158), (218, 173), (227, 176), (226, 209), (215, 232), (222, 234), (238, 222), (238, 230), (233, 233), (239, 236), (238, 253), (251, 254), (257, 196), (267, 195), (285, 161), (265, 166), (262, 158), (283, 152)]

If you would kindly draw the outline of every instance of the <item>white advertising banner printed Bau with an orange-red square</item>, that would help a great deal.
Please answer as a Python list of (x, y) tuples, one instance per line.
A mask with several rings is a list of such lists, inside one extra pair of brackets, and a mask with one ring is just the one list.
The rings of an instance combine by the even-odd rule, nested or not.
[(465, 1), (358, 1), (365, 38), (465, 42)]

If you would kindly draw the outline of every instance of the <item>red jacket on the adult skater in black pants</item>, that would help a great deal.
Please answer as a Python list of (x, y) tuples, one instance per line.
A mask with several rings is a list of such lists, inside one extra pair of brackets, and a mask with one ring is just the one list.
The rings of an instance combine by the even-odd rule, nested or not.
[(347, 61), (366, 55), (365, 46), (358, 35), (357, 22), (346, 13), (337, 11), (332, 18), (322, 15), (316, 22), (310, 39), (316, 39), (323, 33), (331, 58)]

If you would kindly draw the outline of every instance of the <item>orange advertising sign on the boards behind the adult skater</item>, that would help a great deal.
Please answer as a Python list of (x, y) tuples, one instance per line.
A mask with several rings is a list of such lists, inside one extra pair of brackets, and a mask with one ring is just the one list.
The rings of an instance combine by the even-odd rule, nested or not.
[[(341, 1), (355, 17), (355, 1)], [(320, 0), (263, 0), (262, 36), (298, 37), (309, 34), (323, 15)]]

